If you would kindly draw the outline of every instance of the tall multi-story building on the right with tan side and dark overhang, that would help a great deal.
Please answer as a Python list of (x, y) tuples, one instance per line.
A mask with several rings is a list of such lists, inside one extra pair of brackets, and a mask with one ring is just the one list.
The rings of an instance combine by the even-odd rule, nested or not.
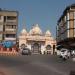
[(69, 5), (59, 18), (56, 28), (57, 45), (75, 48), (75, 4)]

